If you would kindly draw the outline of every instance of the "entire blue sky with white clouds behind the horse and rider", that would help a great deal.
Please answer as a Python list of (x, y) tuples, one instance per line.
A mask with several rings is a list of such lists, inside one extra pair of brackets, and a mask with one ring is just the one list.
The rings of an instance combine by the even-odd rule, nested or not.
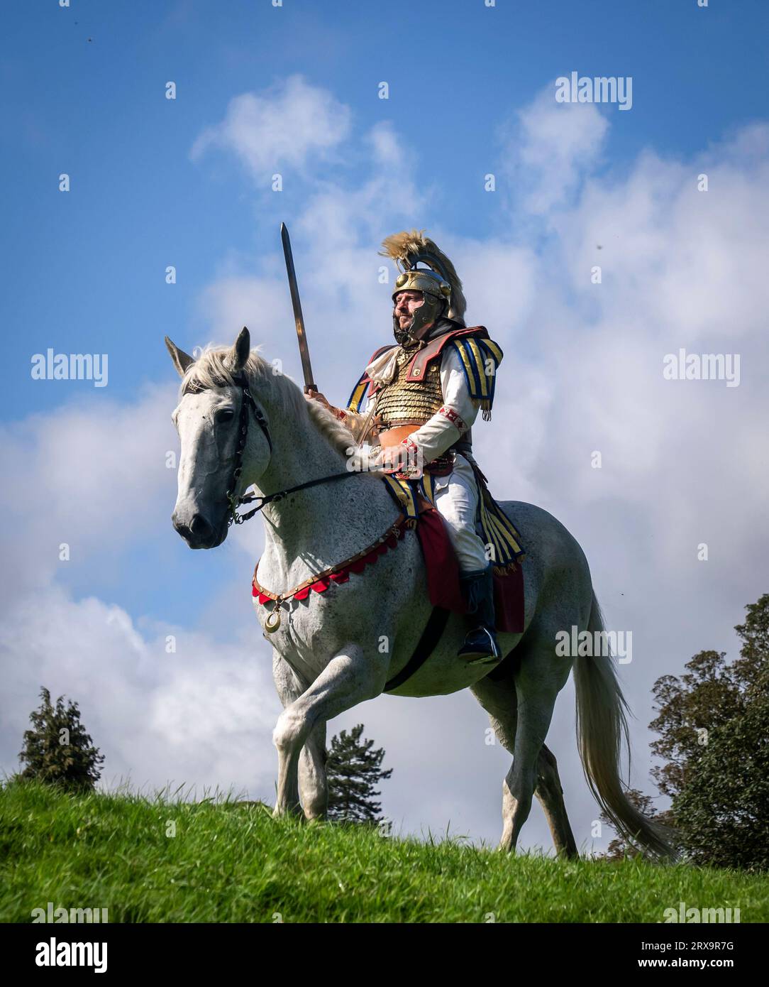
[[(750, 436), (761, 434), (763, 384), (747, 373), (730, 393), (700, 382), (693, 401), (679, 404), (676, 392), (668, 405), (671, 391), (658, 395), (656, 374), (664, 352), (679, 344), (733, 351), (738, 341), (743, 366), (757, 371), (765, 361), (758, 313), (765, 311), (766, 248), (751, 222), (765, 194), (768, 21), (766, 5), (751, 0), (711, 0), (705, 9), (696, 0), (499, 0), (494, 8), (482, 0), (285, 0), (281, 8), (269, 0), (72, 0), (68, 9), (48, 0), (4, 11), (3, 441), (6, 462), (17, 464), (6, 481), (10, 558), (30, 572), (7, 601), (16, 631), (6, 654), (17, 679), (14, 705), (3, 710), (3, 767), (15, 766), (20, 730), (46, 674), (52, 690), (90, 710), (86, 721), (97, 721), (92, 731), (113, 770), (132, 768), (138, 783), (166, 777), (156, 749), (142, 760), (131, 756), (124, 731), (112, 736), (99, 712), (96, 657), (93, 666), (73, 657), (70, 667), (47, 639), (31, 638), (34, 657), (20, 671), (14, 655), (25, 653), (25, 635), (33, 634), (32, 599), (42, 608), (39, 631), (50, 620), (44, 601), (55, 597), (62, 641), (73, 653), (79, 643), (90, 653), (84, 601), (93, 599), (105, 613), (124, 615), (109, 626), (130, 625), (125, 640), (144, 662), (155, 637), (174, 627), (197, 636), (194, 667), (206, 674), (221, 649), (240, 667), (246, 642), (266, 667), (247, 597), (258, 529), (212, 553), (190, 553), (171, 529), (175, 477), (164, 457), (176, 448), (169, 421), (175, 374), (163, 336), (191, 349), (229, 342), (248, 324), (265, 352), (298, 375), (279, 253), (285, 220), (316, 377), (337, 401), (388, 338), (388, 291), (377, 282), (381, 239), (414, 225), (436, 231), (437, 239), (442, 234), (442, 246), (448, 241), (472, 315), (503, 342), (503, 373), (516, 384), (509, 418), (503, 413), (494, 423), (510, 436), (510, 456), (494, 457), (491, 439), (481, 440), (488, 442), (493, 489), (536, 499), (584, 532), (596, 580), (610, 593), (616, 586), (610, 607), (617, 619), (658, 655), (669, 647), (627, 682), (641, 706), (643, 775), (651, 682), (680, 670), (698, 647), (732, 646), (741, 606), (767, 588), (750, 535), (760, 527), (752, 498), (762, 460), (745, 451)], [(553, 116), (553, 81), (573, 70), (632, 76), (632, 110), (580, 107)], [(286, 96), (292, 79), (299, 80), (296, 98)], [(170, 80), (174, 101), (165, 98)], [(378, 99), (383, 81), (388, 100)], [(256, 134), (249, 149), (242, 125), (223, 129), (244, 94), (262, 109), (315, 99), (339, 133), (325, 147), (320, 132), (289, 134), (298, 145), (293, 160), (274, 132)], [(206, 133), (215, 136), (193, 154)], [(704, 212), (703, 200), (687, 191), (687, 176), (701, 169), (720, 177)], [(279, 193), (270, 190), (274, 171), (284, 179)], [(60, 173), (70, 175), (67, 193), (58, 190)], [(487, 173), (497, 177), (496, 194), (483, 189)], [(594, 263), (590, 251), (601, 241), (607, 276), (598, 300), (576, 271)], [(622, 248), (612, 255), (614, 241)], [(697, 251), (707, 256), (686, 266)], [(175, 285), (165, 281), (169, 265)], [(47, 347), (106, 352), (108, 386), (32, 380), (31, 357)], [(639, 368), (637, 377), (631, 367)], [(614, 403), (597, 407), (604, 380), (615, 382), (607, 394)], [(580, 472), (577, 450), (582, 457), (584, 447), (587, 457), (604, 446), (616, 455), (607, 459), (601, 490), (594, 473)], [(51, 469), (56, 450), (66, 455)], [(614, 475), (611, 462), (619, 464)], [(48, 527), (26, 516), (31, 504), (50, 512)], [(722, 568), (704, 575), (676, 539), (689, 525), (691, 541), (717, 539), (716, 521), (725, 542)], [(80, 550), (66, 567), (51, 567), (54, 546), (75, 529)], [(683, 594), (674, 606), (671, 592)], [(133, 645), (109, 642), (110, 676), (122, 668), (130, 677)], [(118, 691), (121, 681), (110, 678)], [(268, 676), (258, 681), (269, 689)], [(157, 702), (161, 687), (152, 675), (131, 682), (148, 706)], [(277, 701), (263, 702), (266, 723)], [(428, 704), (435, 722), (445, 722), (444, 709), (469, 722), (466, 697), (446, 703)], [(365, 719), (374, 732), (376, 716), (353, 711), (349, 722)], [(381, 716), (377, 739), (384, 741), (392, 724), (385, 746), (393, 758), (405, 757), (406, 741), (398, 749), (394, 731), (408, 728), (408, 711)], [(474, 717), (485, 727), (479, 711)], [(554, 726), (565, 748), (567, 726), (567, 714)], [(231, 747), (200, 779), (225, 786), (236, 779), (268, 797), (268, 742), (268, 732), (245, 736), (254, 756), (259, 749), (258, 771), (231, 772)], [(169, 764), (194, 773), (193, 754), (185, 757)], [(473, 805), (462, 816), (460, 806), (460, 824), (475, 836), (496, 830), (504, 763), (502, 756), (488, 770), (490, 808)], [(436, 782), (438, 809), (420, 805), (419, 779), (407, 778), (402, 763), (392, 766), (393, 791), (401, 786), (393, 800), (407, 826), (452, 814), (448, 776)], [(472, 758), (465, 770), (478, 774)], [(591, 818), (589, 808), (584, 814)], [(541, 820), (529, 825), (546, 842)]]

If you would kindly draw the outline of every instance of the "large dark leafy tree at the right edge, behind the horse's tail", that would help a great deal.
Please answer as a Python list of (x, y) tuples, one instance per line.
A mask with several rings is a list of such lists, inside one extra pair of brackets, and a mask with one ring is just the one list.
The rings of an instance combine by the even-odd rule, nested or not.
[(726, 654), (700, 651), (679, 678), (655, 683), (653, 769), (670, 817), (698, 864), (769, 869), (769, 594), (746, 607)]

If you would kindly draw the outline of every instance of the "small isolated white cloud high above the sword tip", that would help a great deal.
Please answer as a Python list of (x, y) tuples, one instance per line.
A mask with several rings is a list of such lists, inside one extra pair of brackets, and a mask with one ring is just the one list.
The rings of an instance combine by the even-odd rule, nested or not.
[(303, 169), (311, 158), (328, 157), (349, 131), (348, 107), (292, 75), (263, 93), (232, 99), (225, 118), (205, 129), (190, 153), (197, 160), (211, 147), (232, 151), (262, 185), (280, 168)]

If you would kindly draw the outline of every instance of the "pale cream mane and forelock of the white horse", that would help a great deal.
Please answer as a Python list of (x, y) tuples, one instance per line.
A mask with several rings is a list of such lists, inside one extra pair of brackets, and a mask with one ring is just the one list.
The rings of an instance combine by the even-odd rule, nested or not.
[[(205, 346), (200, 356), (187, 368), (179, 395), (199, 388), (233, 387), (233, 373), (226, 362), (226, 357), (231, 353), (231, 346), (210, 343)], [(285, 374), (275, 373), (273, 365), (259, 354), (258, 347), (251, 348), (244, 369), (254, 396), (269, 391), (268, 401), (273, 412), (292, 420), (308, 416), (331, 448), (343, 456), (350, 446), (355, 445), (349, 428), (317, 401), (307, 401), (302, 391)]]

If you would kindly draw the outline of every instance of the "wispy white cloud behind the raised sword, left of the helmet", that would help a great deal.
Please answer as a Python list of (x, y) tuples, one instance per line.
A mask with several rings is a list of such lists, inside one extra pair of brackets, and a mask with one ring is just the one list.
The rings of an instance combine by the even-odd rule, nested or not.
[[(352, 387), (353, 378), (360, 375), (361, 360), (371, 355), (370, 350), (361, 356), (357, 348), (362, 323), (386, 325), (389, 320), (394, 268), (378, 256), (380, 243), (398, 226), (413, 225), (413, 217), (427, 209), (429, 200), (429, 190), (417, 186), (413, 154), (389, 123), (367, 131), (361, 147), (365, 180), (352, 187), (341, 179), (318, 182), (291, 223), (315, 380), (321, 388), (329, 386), (327, 381), (341, 379), (350, 380)], [(390, 283), (380, 283), (383, 266)], [(247, 325), (252, 341), (264, 344), (265, 357), (283, 358), (286, 372), (301, 381), (279, 248), (258, 264), (244, 259), (239, 265), (230, 258), (226, 269), (201, 292), (198, 308), (219, 339), (229, 341), (234, 327)], [(376, 336), (371, 339), (372, 348), (381, 345)]]

